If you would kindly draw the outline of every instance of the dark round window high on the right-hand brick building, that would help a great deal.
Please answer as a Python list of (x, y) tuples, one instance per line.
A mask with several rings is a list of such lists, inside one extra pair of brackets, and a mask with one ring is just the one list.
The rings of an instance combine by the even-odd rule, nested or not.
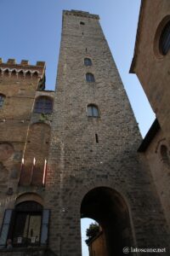
[(160, 50), (162, 55), (167, 55), (167, 52), (170, 49), (170, 20), (164, 26), (161, 37), (160, 37)]

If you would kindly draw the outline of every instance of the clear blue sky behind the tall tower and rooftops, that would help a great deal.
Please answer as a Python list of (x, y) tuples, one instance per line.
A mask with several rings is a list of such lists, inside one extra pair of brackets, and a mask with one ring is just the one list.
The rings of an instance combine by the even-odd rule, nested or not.
[[(129, 74), (140, 0), (0, 0), (0, 56), (31, 64), (46, 61), (46, 87), (54, 90), (63, 9), (81, 9), (100, 16), (105, 38), (127, 90), (144, 136), (155, 115), (137, 77)], [(83, 254), (88, 255), (87, 253)]]

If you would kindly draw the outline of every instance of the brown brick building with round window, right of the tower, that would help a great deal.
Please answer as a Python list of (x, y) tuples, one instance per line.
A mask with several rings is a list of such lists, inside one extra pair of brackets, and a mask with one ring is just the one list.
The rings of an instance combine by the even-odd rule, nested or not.
[[(153, 9), (156, 15), (153, 14)], [(147, 29), (146, 29), (147, 28)], [(136, 73), (156, 120), (139, 147), (150, 171), (170, 227), (170, 2), (143, 0), (130, 69)]]

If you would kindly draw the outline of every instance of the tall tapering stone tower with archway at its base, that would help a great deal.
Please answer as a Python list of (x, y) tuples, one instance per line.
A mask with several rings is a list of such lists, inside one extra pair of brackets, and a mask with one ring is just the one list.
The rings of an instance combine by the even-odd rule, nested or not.
[(139, 128), (98, 15), (63, 12), (56, 88), (45, 195), (49, 247), (81, 256), (81, 218), (102, 226), (109, 256), (128, 246), (167, 247), (155, 185), (137, 153)]

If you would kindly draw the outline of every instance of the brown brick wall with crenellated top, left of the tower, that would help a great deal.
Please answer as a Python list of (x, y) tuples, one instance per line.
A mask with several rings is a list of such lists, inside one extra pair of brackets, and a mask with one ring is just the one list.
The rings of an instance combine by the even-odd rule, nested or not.
[(7, 63), (0, 60), (0, 94), (5, 96), (0, 108), (0, 226), (5, 209), (14, 208), (17, 196), (28, 190), (18, 186), (20, 167), (44, 68), (41, 61), (33, 66), (28, 61), (17, 64), (14, 59)]

